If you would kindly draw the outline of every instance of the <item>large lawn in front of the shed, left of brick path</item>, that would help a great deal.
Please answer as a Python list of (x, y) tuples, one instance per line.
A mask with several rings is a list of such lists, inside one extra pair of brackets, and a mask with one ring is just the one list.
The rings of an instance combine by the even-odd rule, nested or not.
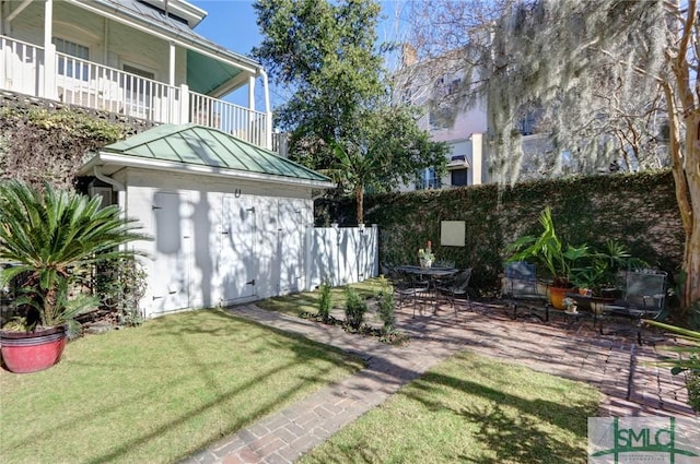
[(360, 367), (219, 310), (86, 336), (46, 371), (0, 371), (0, 462), (176, 462)]

